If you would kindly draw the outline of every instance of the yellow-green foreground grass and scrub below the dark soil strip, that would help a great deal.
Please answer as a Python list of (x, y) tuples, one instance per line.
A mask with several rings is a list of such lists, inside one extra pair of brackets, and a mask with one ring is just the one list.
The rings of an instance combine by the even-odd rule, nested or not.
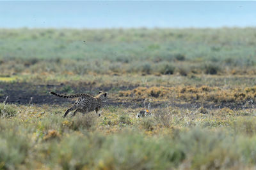
[(102, 117), (62, 118), (60, 107), (13, 107), (19, 115), (0, 120), (3, 169), (216, 169), (255, 164), (255, 109), (202, 113), (202, 108), (157, 108), (152, 117), (136, 119), (138, 110), (127, 108), (104, 108)]

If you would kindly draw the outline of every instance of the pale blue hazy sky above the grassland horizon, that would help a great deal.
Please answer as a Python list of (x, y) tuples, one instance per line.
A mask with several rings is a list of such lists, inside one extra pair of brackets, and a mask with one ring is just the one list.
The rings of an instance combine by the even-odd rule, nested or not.
[(1, 1), (0, 28), (256, 27), (256, 1)]

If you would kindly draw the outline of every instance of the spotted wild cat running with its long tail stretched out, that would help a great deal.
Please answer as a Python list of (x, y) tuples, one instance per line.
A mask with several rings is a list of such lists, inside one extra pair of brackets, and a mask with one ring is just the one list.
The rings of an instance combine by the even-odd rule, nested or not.
[(50, 94), (53, 94), (54, 96), (58, 96), (58, 97), (64, 97), (64, 98), (73, 98), (73, 97), (78, 97), (78, 99), (75, 101), (75, 103), (67, 109), (67, 111), (65, 111), (63, 117), (66, 117), (67, 114), (70, 111), (76, 110), (73, 113), (73, 116), (76, 115), (77, 112), (81, 112), (81, 113), (88, 113), (91, 111), (95, 111), (96, 114), (99, 114), (100, 117), (100, 113), (99, 110), (100, 108), (102, 108), (102, 103), (106, 102), (108, 99), (108, 92), (102, 92), (100, 91), (99, 94), (95, 97), (91, 96), (90, 94), (72, 94), (72, 95), (61, 95), (61, 94), (57, 94), (55, 92), (50, 92)]

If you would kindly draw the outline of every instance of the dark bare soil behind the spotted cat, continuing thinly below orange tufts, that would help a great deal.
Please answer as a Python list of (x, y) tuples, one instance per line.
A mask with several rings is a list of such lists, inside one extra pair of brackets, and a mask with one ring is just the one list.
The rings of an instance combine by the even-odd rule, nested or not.
[[(131, 90), (138, 87), (137, 86), (122, 86), (116, 87), (115, 85), (101, 86), (97, 87), (93, 83), (83, 83), (79, 85), (74, 85), (71, 83), (60, 83), (60, 84), (33, 84), (33, 83), (5, 83), (0, 82), (0, 103), (3, 103), (8, 96), (6, 103), (10, 104), (51, 104), (51, 105), (67, 105), (72, 103), (72, 99), (65, 99), (61, 97), (52, 96), (49, 92), (54, 91), (60, 94), (76, 94), (76, 93), (87, 93), (95, 96), (100, 90), (104, 92), (109, 92), (110, 96), (116, 94), (119, 90)], [(31, 97), (32, 100), (31, 100)], [(134, 101), (115, 101), (115, 99), (109, 97), (106, 105), (109, 106), (124, 106), (131, 108), (143, 107), (143, 99), (134, 99)], [(151, 104), (153, 108), (165, 107), (165, 106), (175, 106), (178, 108), (199, 108), (204, 106), (204, 108), (216, 109), (216, 108), (230, 108), (232, 110), (242, 109), (242, 108), (253, 108), (253, 106), (236, 104), (236, 103), (198, 103), (195, 101), (193, 103), (184, 103), (178, 99), (175, 101), (162, 101), (154, 102)]]

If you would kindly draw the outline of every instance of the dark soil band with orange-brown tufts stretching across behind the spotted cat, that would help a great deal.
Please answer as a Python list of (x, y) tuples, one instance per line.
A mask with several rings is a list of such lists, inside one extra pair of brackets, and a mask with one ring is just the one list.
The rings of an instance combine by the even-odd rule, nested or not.
[[(218, 88), (212, 87), (138, 87), (127, 85), (116, 87), (116, 85), (97, 87), (95, 83), (59, 83), (59, 84), (33, 84), (33, 83), (6, 83), (0, 82), (0, 102), (8, 96), (7, 103), (15, 104), (58, 104), (65, 105), (72, 103), (72, 99), (64, 99), (52, 96), (50, 91), (60, 94), (87, 93), (96, 95), (99, 90), (109, 92), (109, 99), (106, 103), (109, 106), (124, 106), (131, 108), (143, 107), (145, 98), (151, 97), (152, 108), (175, 106), (179, 108), (254, 108), (252, 100), (248, 96), (255, 94), (255, 89), (247, 88), (244, 92), (221, 92)], [(216, 96), (214, 96), (216, 94)], [(243, 95), (244, 94), (244, 95)], [(199, 97), (198, 97), (199, 96)], [(232, 96), (232, 100), (230, 99)], [(247, 98), (246, 98), (247, 96)], [(204, 98), (206, 97), (206, 98)], [(217, 98), (218, 97), (218, 98)], [(223, 98), (222, 98), (223, 97)], [(226, 97), (226, 98), (225, 98)], [(210, 100), (212, 99), (212, 100)], [(218, 100), (216, 100), (218, 99)], [(241, 100), (241, 101), (237, 101)], [(252, 103), (250, 103), (252, 101)]]

